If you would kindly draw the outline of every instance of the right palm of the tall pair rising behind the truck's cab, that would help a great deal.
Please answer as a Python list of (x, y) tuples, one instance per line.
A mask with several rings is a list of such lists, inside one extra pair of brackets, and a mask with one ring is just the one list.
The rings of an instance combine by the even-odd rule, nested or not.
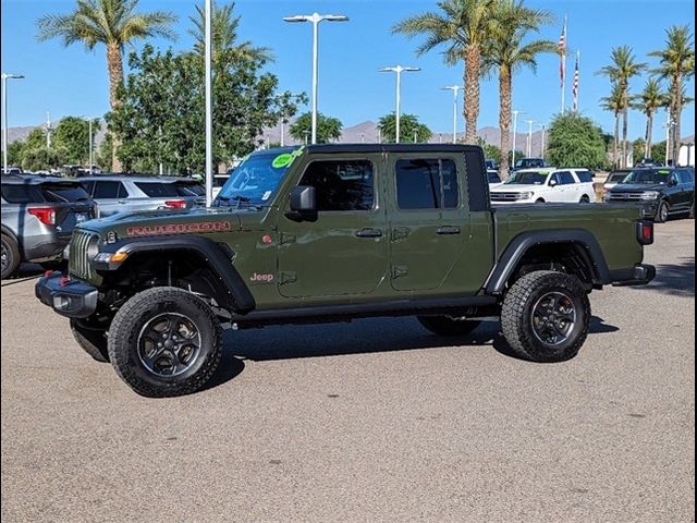
[(523, 0), (517, 2), (499, 2), (496, 16), (499, 24), (492, 33), (484, 52), (482, 71), (490, 75), (499, 73), (499, 127), (501, 130), (501, 165), (502, 178), (509, 175), (511, 100), (513, 97), (513, 75), (524, 66), (537, 69), (537, 56), (541, 52), (557, 52), (557, 42), (552, 40), (534, 40), (523, 44), (530, 32), (539, 32), (543, 24), (553, 21), (548, 11), (528, 9)]

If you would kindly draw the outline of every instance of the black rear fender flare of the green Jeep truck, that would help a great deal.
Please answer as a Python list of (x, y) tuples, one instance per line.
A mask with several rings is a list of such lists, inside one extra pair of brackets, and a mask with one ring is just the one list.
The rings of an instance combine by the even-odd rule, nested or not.
[(580, 252), (584, 253), (585, 262), (592, 270), (594, 280), (599, 284), (612, 281), (600, 244), (590, 231), (585, 229), (529, 231), (515, 236), (505, 247), (485, 283), (487, 294), (503, 292), (506, 281), (513, 276), (513, 270), (530, 247), (550, 244), (574, 244), (582, 247)]

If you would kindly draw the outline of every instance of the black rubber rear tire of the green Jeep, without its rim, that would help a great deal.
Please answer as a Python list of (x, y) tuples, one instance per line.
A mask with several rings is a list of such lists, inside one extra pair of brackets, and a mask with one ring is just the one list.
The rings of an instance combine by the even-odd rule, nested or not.
[[(533, 327), (533, 308), (545, 295), (559, 292), (571, 300), (576, 320), (560, 344), (541, 341)], [(590, 302), (575, 276), (552, 270), (529, 272), (509, 289), (501, 308), (501, 329), (511, 349), (519, 357), (534, 362), (571, 360), (586, 341), (590, 324)]]

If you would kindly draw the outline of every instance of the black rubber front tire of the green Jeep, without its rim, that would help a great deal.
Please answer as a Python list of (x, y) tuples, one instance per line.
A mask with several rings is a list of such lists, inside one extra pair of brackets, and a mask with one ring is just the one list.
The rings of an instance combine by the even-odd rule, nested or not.
[[(200, 336), (199, 353), (186, 372), (162, 377), (149, 370), (139, 356), (138, 339), (158, 315), (185, 315)], [(119, 377), (138, 394), (164, 398), (199, 390), (213, 375), (222, 356), (222, 329), (200, 297), (173, 287), (139, 292), (119, 309), (109, 328), (109, 358)]]

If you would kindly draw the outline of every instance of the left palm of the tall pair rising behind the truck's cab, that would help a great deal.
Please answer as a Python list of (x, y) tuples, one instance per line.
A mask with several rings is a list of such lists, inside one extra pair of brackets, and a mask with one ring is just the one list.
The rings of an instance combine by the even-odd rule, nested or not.
[(493, 16), (500, 0), (442, 0), (438, 7), (442, 12), (427, 12), (403, 20), (392, 28), (408, 37), (426, 35), (426, 41), (417, 49), (423, 56), (444, 46), (444, 59), (449, 65), (465, 62), (465, 142), (477, 143), (477, 118), (479, 117), (479, 78), (481, 53), (497, 24)]

